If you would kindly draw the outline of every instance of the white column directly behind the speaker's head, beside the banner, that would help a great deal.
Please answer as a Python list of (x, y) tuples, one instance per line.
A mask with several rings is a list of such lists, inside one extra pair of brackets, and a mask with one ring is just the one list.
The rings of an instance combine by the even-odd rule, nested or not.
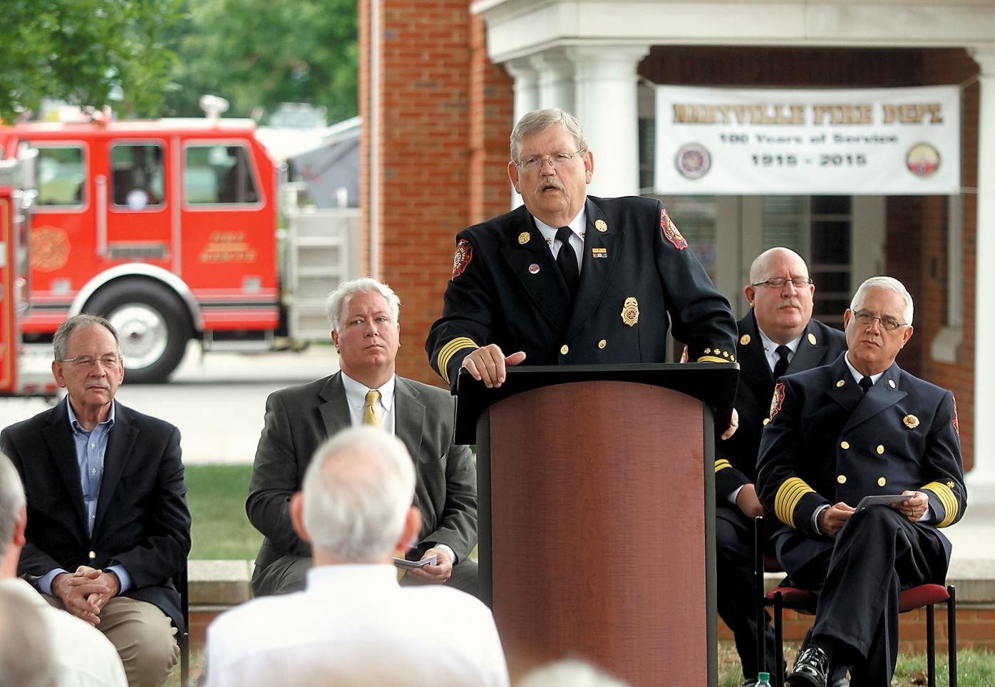
[(593, 196), (639, 193), (636, 67), (649, 52), (649, 46), (567, 49), (576, 70), (574, 114), (594, 153)]

